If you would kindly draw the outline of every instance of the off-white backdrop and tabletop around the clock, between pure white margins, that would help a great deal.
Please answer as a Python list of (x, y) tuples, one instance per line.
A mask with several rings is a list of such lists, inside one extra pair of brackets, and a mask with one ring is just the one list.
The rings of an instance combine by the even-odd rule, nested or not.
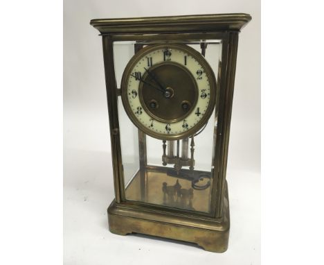
[[(228, 155), (226, 253), (190, 243), (111, 234), (114, 198), (102, 42), (90, 19), (246, 12), (240, 34)], [(65, 264), (260, 264), (259, 1), (64, 1)]]

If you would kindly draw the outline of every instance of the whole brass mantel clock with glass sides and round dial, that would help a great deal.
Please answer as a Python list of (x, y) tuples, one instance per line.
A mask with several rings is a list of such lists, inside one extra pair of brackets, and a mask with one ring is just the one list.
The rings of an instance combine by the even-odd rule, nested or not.
[(246, 14), (93, 19), (102, 35), (116, 234), (223, 252), (238, 33)]

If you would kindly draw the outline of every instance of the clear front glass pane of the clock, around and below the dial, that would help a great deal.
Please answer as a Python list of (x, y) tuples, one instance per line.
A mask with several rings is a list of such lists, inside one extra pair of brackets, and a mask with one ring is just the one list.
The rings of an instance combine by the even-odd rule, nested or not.
[[(211, 69), (213, 69), (215, 78), (217, 79), (222, 54), (222, 41), (206, 40), (203, 44), (201, 44), (201, 42), (186, 42), (186, 45), (199, 51), (199, 53), (202, 52), (205, 54), (205, 60), (208, 62), (208, 65), (210, 65)], [(123, 71), (134, 55), (135, 44), (136, 42), (114, 43), (115, 71), (118, 87), (120, 87)], [(141, 45), (138, 45), (137, 42), (136, 49), (140, 50), (147, 46), (147, 44), (151, 43), (141, 42)], [(154, 42), (154, 44), (159, 44), (159, 42)], [(204, 51), (202, 51), (201, 48), (203, 48)], [(165, 53), (164, 56), (167, 56), (164, 57), (164, 60), (168, 60), (168, 53)], [(185, 61), (183, 64), (186, 65), (187, 58), (186, 56), (184, 57)], [(147, 58), (145, 58), (143, 63), (148, 63), (147, 67), (152, 67), (154, 62), (152, 63), (150, 60), (146, 62), (146, 59)], [(152, 67), (152, 69), (154, 69), (154, 67)], [(139, 80), (139, 83), (141, 83), (144, 74), (145, 72), (136, 74), (136, 76), (133, 74), (134, 80)], [(156, 71), (155, 74), (159, 75), (159, 71)], [(199, 79), (199, 73), (197, 73), (197, 75), (194, 73), (192, 76), (194, 76), (195, 79)], [(172, 78), (172, 76), (170, 78)], [(158, 77), (156, 77), (156, 79), (158, 79)], [(166, 78), (164, 77), (163, 81), (168, 83), (168, 76)], [(143, 82), (150, 83), (149, 85), (153, 87), (150, 89), (155, 89), (159, 85), (159, 82), (154, 81), (153, 85), (152, 82), (144, 80)], [(197, 83), (199, 83), (199, 81), (197, 81)], [(136, 90), (133, 96), (139, 96), (138, 91), (139, 90)], [(207, 96), (207, 94), (202, 94), (200, 87), (197, 91), (198, 100), (200, 100), (199, 96), (201, 99)], [(175, 94), (176, 93), (177, 92), (175, 92)], [(145, 101), (145, 99), (141, 100), (141, 103)], [(138, 110), (138, 116), (141, 110), (142, 109)], [(197, 112), (197, 116), (201, 114), (199, 108), (195, 111)], [(204, 125), (201, 126), (199, 130), (192, 132), (193, 136), (186, 135), (179, 140), (162, 140), (146, 135), (143, 132), (144, 130), (139, 130), (134, 126), (129, 119), (129, 114), (127, 115), (125, 112), (120, 97), (118, 97), (125, 196), (127, 200), (196, 212), (210, 212), (214, 181), (213, 151), (215, 149), (217, 135), (217, 110), (215, 110), (214, 106), (214, 109), (211, 108), (210, 111), (212, 111), (212, 114), (209, 119), (206, 121), (204, 120)], [(194, 113), (194, 110), (190, 110), (190, 113), (191, 112)], [(188, 117), (190, 117), (189, 114)], [(157, 123), (155, 120), (154, 122)], [(175, 123), (170, 124), (172, 126), (172, 124)], [(183, 122), (183, 126), (185, 126), (185, 122)], [(164, 127), (162, 127), (162, 130), (164, 130), (163, 128)], [(168, 124), (165, 126), (165, 130), (168, 131)]]

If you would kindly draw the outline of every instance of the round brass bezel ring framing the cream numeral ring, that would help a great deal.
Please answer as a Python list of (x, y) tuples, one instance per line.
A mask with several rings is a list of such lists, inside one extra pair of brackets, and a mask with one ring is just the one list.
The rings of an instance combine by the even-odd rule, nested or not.
[[(202, 117), (195, 126), (192, 128), (184, 131), (179, 132), (177, 134), (173, 135), (162, 135), (161, 133), (154, 132), (150, 130), (149, 128), (143, 126), (143, 124), (138, 121), (136, 118), (136, 115), (133, 113), (131, 106), (129, 105), (129, 101), (127, 99), (127, 83), (129, 80), (129, 76), (132, 72), (132, 69), (136, 65), (136, 63), (143, 58), (147, 53), (150, 53), (151, 51), (155, 51), (157, 49), (179, 49), (182, 51), (185, 51), (186, 53), (192, 55), (193, 58), (195, 58), (200, 64), (201, 67), (204, 68), (206, 72), (206, 76), (208, 78), (208, 82), (210, 84), (210, 101), (207, 107), (207, 110), (204, 114), (204, 117)], [(129, 119), (134, 123), (134, 125), (139, 129), (145, 132), (146, 135), (150, 135), (151, 137), (154, 137), (156, 139), (163, 139), (163, 140), (175, 140), (175, 139), (183, 139), (186, 137), (190, 137), (191, 135), (194, 135), (195, 132), (200, 130), (204, 124), (208, 121), (210, 115), (213, 113), (213, 110), (215, 108), (216, 101), (216, 95), (217, 95), (217, 84), (216, 84), (216, 78), (213, 69), (210, 67), (206, 59), (195, 49), (191, 48), (190, 46), (187, 46), (186, 44), (148, 44), (143, 49), (138, 51), (132, 58), (129, 60), (127, 66), (125, 67), (125, 70), (123, 72), (123, 77), (120, 83), (120, 89), (121, 89), (121, 98), (123, 102), (123, 106), (125, 108), (125, 112)], [(192, 108), (193, 110), (195, 108)], [(190, 112), (191, 113), (191, 112)], [(170, 123), (169, 121), (165, 121), (165, 123)]]

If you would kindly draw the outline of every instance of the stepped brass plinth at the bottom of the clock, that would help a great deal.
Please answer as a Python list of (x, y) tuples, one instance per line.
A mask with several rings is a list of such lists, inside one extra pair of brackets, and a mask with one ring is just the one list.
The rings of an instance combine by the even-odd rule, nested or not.
[(114, 234), (149, 234), (197, 243), (204, 250), (222, 253), (227, 250), (230, 228), (227, 183), (224, 214), (221, 218), (184, 216), (175, 212), (147, 210), (129, 203), (111, 203), (109, 230)]

